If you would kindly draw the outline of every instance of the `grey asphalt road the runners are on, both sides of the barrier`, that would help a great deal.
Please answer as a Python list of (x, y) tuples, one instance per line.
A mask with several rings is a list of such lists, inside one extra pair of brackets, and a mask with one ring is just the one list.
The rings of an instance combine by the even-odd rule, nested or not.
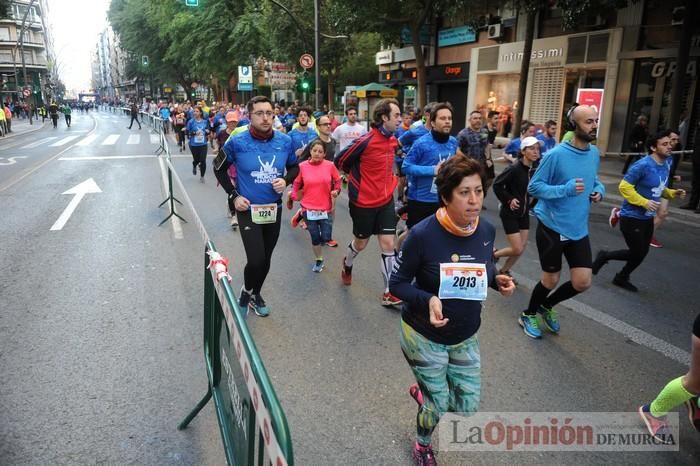
[[(74, 121), (70, 130), (43, 128), (12, 140), (26, 144), (0, 145), (0, 157), (27, 157), (0, 164), (0, 463), (222, 464), (211, 405), (186, 431), (175, 430), (206, 387), (199, 232), (191, 221), (157, 227), (166, 215), (157, 208), (162, 172), (145, 126), (128, 131), (127, 117), (107, 113), (74, 114)], [(22, 149), (42, 138), (55, 143), (69, 131), (87, 132), (62, 146)], [(103, 144), (113, 134), (115, 143)], [(137, 134), (139, 142), (127, 144)], [(245, 255), (229, 228), (225, 195), (211, 169), (201, 184), (189, 155), (173, 155), (210, 236), (231, 260), (237, 290)], [(90, 178), (102, 192), (86, 194), (65, 226), (50, 230), (73, 196), (61, 193)], [(483, 217), (497, 225), (502, 245), (493, 194), (486, 205)], [(610, 205), (593, 209), (594, 250), (624, 245), (607, 225)], [(187, 208), (179, 212), (192, 219)], [(409, 464), (412, 376), (399, 349), (398, 312), (379, 304), (376, 242), (356, 260), (353, 285), (344, 287), (346, 199), (334, 226), (341, 247), (324, 252), (321, 274), (311, 271), (308, 234), (291, 229), (288, 219), (285, 211), (263, 288), (272, 314), (248, 323), (287, 414), (295, 462)], [(510, 298), (491, 294), (484, 307), (481, 411), (634, 412), (684, 373), (698, 312), (699, 226), (693, 217), (670, 219), (657, 235), (665, 247), (652, 250), (634, 274), (638, 294), (613, 286), (617, 268), (609, 265), (591, 290), (560, 307), (561, 335), (540, 341), (516, 323), (527, 285), (539, 275), (530, 244), (514, 269), (521, 289)], [(440, 452), (438, 459), (697, 464), (700, 437), (684, 409), (680, 415), (677, 453)]]

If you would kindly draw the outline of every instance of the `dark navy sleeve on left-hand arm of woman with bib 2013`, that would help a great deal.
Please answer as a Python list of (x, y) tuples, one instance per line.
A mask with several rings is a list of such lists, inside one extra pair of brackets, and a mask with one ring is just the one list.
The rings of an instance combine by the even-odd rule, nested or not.
[(421, 256), (420, 240), (415, 233), (409, 232), (391, 272), (389, 291), (407, 304), (427, 310), (428, 301), (433, 295), (412, 283), (420, 267)]

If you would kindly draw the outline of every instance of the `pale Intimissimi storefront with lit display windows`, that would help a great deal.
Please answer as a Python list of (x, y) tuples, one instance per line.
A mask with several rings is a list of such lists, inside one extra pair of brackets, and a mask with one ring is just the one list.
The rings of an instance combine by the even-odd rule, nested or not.
[[(611, 29), (533, 41), (523, 118), (540, 125), (547, 120), (561, 122), (580, 89), (604, 89), (598, 142), (605, 150), (621, 38), (621, 29)], [(524, 42), (513, 42), (474, 48), (471, 53), (468, 109), (500, 112), (502, 136), (509, 135), (517, 109), (523, 47)]]

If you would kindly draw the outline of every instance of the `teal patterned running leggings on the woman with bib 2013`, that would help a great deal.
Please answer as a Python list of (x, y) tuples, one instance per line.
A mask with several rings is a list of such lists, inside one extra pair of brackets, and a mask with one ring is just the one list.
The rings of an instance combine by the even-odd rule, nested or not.
[(444, 413), (472, 414), (479, 408), (479, 337), (442, 345), (401, 320), (401, 350), (423, 393), (423, 405), (416, 415), (416, 438), (421, 445), (428, 445)]

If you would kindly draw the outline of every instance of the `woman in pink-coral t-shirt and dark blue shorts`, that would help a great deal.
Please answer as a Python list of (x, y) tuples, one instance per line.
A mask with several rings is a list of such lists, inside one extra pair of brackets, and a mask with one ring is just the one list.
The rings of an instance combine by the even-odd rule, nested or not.
[[(328, 116), (319, 118), (322, 119), (328, 120)], [(330, 122), (327, 123), (330, 126)], [(326, 147), (321, 139), (314, 139), (307, 148), (310, 157), (299, 164), (299, 176), (294, 180), (291, 198), (301, 202), (315, 257), (312, 270), (319, 273), (324, 268), (323, 245), (332, 239), (331, 213), (340, 194), (340, 175), (333, 162), (326, 159)]]

